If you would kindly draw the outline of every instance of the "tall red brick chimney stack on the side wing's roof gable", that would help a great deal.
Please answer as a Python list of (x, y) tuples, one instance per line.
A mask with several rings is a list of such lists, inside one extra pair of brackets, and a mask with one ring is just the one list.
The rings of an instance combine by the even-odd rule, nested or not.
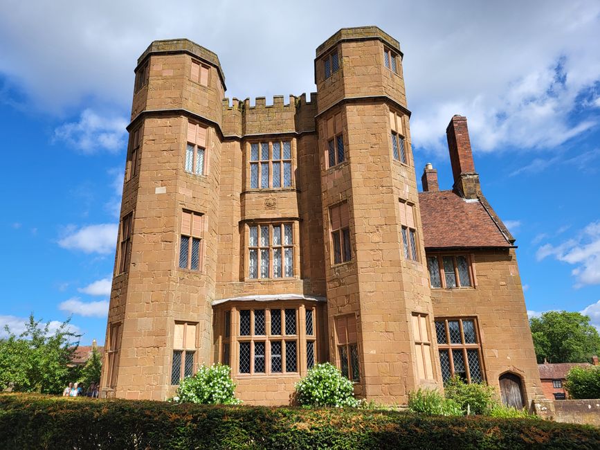
[(465, 199), (476, 199), (481, 192), (479, 174), (475, 172), (466, 117), (453, 116), (446, 128), (450, 163), (454, 176), (453, 188)]

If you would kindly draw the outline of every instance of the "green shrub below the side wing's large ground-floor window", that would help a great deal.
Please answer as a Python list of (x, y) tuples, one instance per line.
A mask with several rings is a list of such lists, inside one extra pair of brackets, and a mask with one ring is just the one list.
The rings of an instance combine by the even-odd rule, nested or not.
[(498, 404), (496, 389), (486, 383), (467, 384), (460, 377), (452, 377), (444, 385), (447, 399), (459, 404), (463, 413), (485, 415)]

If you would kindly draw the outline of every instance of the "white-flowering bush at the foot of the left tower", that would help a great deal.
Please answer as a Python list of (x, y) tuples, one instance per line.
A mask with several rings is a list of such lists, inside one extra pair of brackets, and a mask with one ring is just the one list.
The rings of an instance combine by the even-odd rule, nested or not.
[(231, 379), (231, 368), (223, 364), (200, 366), (193, 377), (185, 377), (177, 388), (173, 400), (178, 403), (201, 403), (206, 405), (237, 405), (242, 400), (235, 398), (235, 383)]

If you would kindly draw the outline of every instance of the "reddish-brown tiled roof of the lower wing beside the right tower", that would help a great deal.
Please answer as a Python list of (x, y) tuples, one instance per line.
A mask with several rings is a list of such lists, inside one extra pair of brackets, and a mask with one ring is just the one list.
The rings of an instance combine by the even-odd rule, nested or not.
[(438, 190), (419, 192), (419, 205), (428, 249), (512, 246), (478, 199), (465, 200), (453, 190)]

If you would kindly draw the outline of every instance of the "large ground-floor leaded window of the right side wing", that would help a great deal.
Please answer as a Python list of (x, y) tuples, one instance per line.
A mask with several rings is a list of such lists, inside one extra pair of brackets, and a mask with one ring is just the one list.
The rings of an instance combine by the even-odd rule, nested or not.
[(435, 335), (442, 379), (458, 375), (467, 383), (484, 381), (478, 323), (475, 318), (436, 318)]

